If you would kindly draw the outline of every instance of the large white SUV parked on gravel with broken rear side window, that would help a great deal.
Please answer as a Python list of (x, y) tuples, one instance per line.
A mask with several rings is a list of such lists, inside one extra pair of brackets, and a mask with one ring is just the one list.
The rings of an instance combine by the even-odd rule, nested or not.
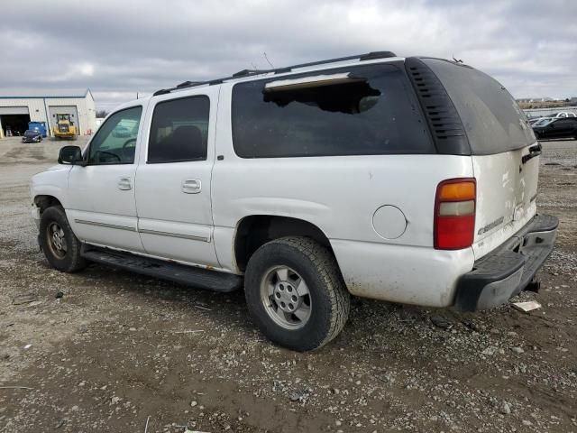
[(536, 290), (557, 219), (513, 97), (463, 64), (373, 52), (185, 82), (120, 106), (32, 178), (50, 264), (244, 287), (271, 340), (338, 335), (350, 294), (487, 309)]

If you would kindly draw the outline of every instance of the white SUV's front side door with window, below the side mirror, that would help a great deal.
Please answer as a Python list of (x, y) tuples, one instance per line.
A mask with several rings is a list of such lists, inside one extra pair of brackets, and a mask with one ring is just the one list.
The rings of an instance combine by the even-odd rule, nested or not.
[(66, 213), (81, 241), (143, 251), (134, 202), (143, 108), (128, 106), (110, 115), (85, 150), (87, 165), (70, 170)]

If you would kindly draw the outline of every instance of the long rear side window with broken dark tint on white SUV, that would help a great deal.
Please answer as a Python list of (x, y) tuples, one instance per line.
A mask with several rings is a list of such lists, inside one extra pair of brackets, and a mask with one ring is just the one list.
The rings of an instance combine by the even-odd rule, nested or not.
[(395, 65), (239, 83), (233, 142), (243, 158), (435, 152)]

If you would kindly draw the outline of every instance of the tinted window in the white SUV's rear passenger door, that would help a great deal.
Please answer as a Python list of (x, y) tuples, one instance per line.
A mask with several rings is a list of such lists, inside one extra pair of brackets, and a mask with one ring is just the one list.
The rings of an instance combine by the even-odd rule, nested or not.
[(208, 97), (183, 97), (154, 108), (148, 162), (206, 160)]

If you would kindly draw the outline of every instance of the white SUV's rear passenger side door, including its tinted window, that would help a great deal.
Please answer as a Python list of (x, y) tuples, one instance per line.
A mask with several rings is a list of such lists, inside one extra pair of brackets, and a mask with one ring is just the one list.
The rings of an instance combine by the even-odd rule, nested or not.
[(148, 254), (219, 266), (211, 207), (219, 88), (151, 99), (136, 170), (138, 231)]

